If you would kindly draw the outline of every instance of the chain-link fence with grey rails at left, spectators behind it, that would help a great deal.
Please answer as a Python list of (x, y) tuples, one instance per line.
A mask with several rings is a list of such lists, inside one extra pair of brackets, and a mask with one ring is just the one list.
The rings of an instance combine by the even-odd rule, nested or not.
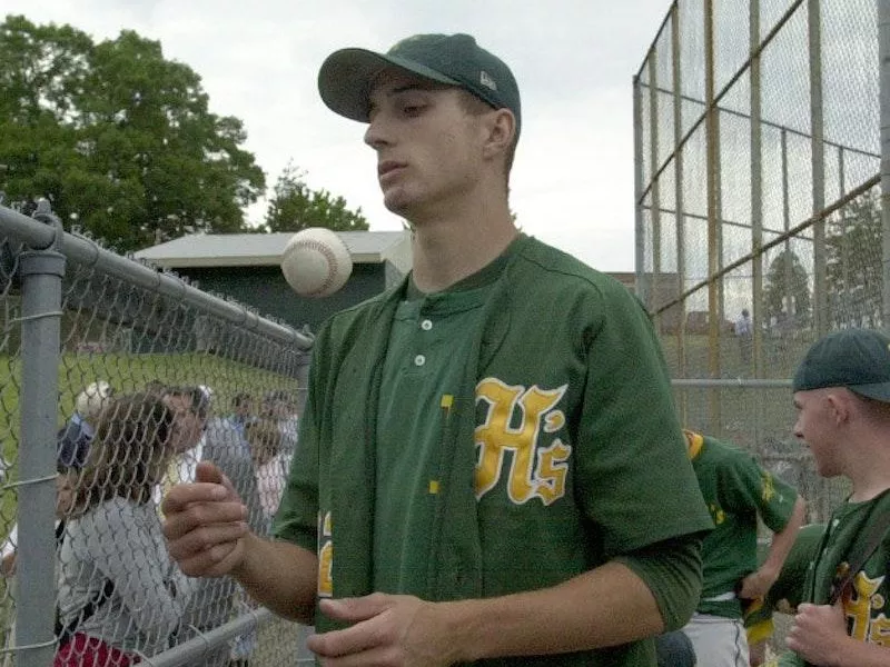
[(63, 233), (46, 207), (0, 207), (0, 321), (4, 664), (44, 667), (60, 636), (108, 650), (79, 633), (151, 665), (300, 661), (299, 626), (179, 573), (158, 500), (212, 460), (268, 531), (312, 338)]

